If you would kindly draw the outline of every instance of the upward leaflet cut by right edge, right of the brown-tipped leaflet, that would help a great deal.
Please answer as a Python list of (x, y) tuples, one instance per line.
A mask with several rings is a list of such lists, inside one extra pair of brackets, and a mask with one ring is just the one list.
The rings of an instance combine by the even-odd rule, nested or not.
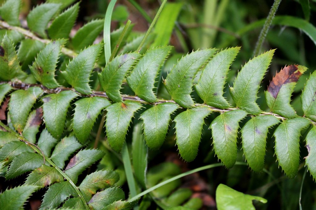
[(316, 122), (316, 71), (308, 78), (301, 99), (304, 115)]

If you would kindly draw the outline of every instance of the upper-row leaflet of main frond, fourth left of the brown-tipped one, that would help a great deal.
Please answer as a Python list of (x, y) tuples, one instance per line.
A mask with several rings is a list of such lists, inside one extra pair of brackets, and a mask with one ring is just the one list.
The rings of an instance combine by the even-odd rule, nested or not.
[(127, 77), (129, 86), (139, 98), (148, 102), (157, 101), (153, 92), (155, 79), (170, 50), (170, 46), (148, 50)]

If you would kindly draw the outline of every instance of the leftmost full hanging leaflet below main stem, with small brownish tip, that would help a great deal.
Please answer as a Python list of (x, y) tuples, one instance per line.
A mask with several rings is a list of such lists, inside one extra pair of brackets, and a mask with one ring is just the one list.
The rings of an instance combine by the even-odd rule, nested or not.
[(13, 127), (21, 133), (27, 116), (30, 113), (36, 99), (43, 93), (39, 87), (31, 87), (27, 90), (16, 90), (11, 93), (9, 102), (10, 119)]

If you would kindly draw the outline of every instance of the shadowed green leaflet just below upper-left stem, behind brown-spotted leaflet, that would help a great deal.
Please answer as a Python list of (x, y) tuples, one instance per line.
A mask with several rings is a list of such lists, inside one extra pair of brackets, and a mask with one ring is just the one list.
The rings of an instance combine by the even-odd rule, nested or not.
[(22, 70), (26, 70), (28, 65), (32, 64), (36, 55), (44, 48), (44, 46), (44, 43), (34, 39), (24, 39), (21, 41), (18, 49), (18, 58), (22, 63)]

